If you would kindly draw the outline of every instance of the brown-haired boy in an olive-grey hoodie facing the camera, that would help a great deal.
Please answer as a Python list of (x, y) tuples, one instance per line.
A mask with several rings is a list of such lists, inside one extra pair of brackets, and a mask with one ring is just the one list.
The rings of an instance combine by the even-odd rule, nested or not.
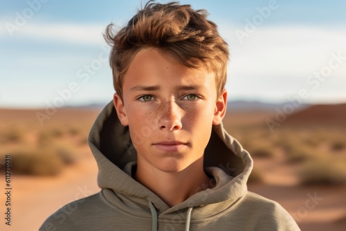
[(149, 1), (105, 37), (116, 93), (89, 135), (102, 190), (40, 230), (299, 230), (247, 192), (253, 160), (221, 123), (228, 46), (206, 12)]

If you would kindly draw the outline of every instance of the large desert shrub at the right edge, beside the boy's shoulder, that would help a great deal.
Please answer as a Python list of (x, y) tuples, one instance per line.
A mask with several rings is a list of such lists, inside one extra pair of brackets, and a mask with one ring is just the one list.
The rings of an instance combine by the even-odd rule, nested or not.
[(303, 185), (332, 185), (346, 183), (346, 159), (320, 155), (298, 169), (297, 176)]

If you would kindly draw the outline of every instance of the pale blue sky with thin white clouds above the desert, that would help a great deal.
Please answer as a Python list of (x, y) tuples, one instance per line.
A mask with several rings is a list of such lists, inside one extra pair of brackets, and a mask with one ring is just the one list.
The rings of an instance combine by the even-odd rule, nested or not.
[[(346, 102), (346, 1), (181, 3), (208, 10), (228, 42), (228, 100)], [(114, 90), (102, 33), (110, 23), (125, 25), (140, 4), (0, 0), (0, 107), (109, 102)]]

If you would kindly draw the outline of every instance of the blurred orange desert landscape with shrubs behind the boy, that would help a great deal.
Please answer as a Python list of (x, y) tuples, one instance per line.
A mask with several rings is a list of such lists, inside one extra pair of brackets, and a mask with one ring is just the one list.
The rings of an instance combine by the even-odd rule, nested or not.
[[(86, 142), (100, 109), (61, 108), (41, 122), (44, 109), (0, 109), (2, 190), (6, 155), (12, 164), (11, 225), (1, 219), (0, 230), (38, 230), (58, 208), (100, 191)], [(229, 109), (224, 126), (255, 161), (248, 189), (279, 202), (302, 230), (346, 230), (346, 104)]]

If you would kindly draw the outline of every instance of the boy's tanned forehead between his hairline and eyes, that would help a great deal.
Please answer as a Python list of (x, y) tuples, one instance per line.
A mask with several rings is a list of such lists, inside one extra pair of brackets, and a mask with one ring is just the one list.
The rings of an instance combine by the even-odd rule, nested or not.
[(122, 93), (140, 91), (199, 91), (217, 95), (215, 74), (190, 68), (157, 48), (144, 48), (134, 56), (122, 77)]

